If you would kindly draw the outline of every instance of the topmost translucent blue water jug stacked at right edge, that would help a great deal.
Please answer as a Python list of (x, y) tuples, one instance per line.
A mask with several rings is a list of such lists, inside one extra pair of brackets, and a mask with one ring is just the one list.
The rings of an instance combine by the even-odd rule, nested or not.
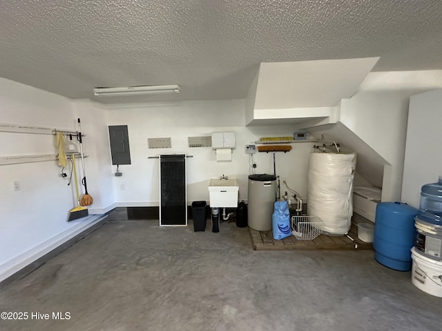
[(442, 175), (437, 183), (422, 186), (419, 219), (442, 225)]

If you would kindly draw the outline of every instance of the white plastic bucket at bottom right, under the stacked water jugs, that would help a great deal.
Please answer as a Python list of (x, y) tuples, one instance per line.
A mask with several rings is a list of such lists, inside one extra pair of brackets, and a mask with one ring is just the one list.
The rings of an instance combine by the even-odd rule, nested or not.
[(412, 283), (416, 288), (442, 298), (442, 261), (435, 261), (412, 248)]

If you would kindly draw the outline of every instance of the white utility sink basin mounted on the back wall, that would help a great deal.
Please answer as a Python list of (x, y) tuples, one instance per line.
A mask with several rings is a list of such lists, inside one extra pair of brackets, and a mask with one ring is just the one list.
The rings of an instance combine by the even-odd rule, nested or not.
[(211, 179), (209, 183), (211, 208), (237, 208), (239, 189), (236, 179)]

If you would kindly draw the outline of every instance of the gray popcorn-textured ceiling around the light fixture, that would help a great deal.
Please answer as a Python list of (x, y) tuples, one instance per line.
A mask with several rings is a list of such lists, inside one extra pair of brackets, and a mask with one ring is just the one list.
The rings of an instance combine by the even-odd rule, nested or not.
[(177, 83), (180, 94), (95, 99), (240, 99), (260, 62), (442, 69), (442, 1), (0, 0), (0, 37), (0, 77), (66, 97)]

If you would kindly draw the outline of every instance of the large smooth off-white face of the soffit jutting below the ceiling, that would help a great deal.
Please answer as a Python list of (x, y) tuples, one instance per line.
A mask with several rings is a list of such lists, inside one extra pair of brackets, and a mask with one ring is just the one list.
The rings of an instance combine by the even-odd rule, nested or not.
[(378, 59), (260, 63), (254, 109), (334, 107), (356, 93)]

